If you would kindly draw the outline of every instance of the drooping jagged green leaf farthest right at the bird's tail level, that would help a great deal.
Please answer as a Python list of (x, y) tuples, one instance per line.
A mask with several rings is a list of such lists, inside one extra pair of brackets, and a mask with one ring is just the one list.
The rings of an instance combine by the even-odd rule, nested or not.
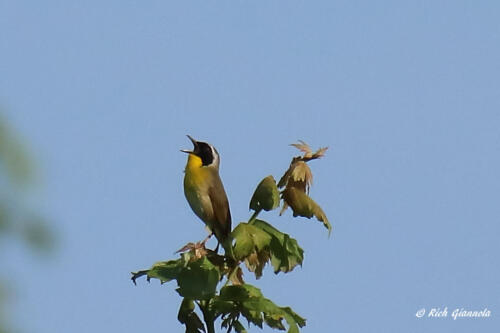
[(302, 265), (304, 250), (295, 239), (291, 238), (288, 234), (282, 233), (265, 221), (255, 220), (253, 225), (272, 237), (269, 252), (275, 273), (280, 271), (287, 273), (292, 271), (297, 265)]

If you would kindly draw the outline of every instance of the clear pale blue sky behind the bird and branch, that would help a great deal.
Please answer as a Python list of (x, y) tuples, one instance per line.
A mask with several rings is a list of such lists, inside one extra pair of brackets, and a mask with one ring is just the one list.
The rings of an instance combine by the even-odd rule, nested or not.
[[(330, 147), (311, 196), (332, 237), (262, 215), (306, 251), (255, 282), (303, 332), (498, 332), (499, 17), (497, 1), (2, 1), (0, 103), (59, 238), (48, 259), (9, 248), (12, 322), (182, 330), (174, 283), (129, 278), (206, 235), (182, 190), (191, 134), (221, 154), (234, 224), (288, 144)], [(492, 314), (415, 317), (445, 306)]]

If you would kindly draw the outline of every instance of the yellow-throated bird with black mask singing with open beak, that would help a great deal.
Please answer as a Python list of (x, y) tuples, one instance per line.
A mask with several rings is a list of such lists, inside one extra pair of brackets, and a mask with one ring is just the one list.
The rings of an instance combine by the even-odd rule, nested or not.
[(228, 254), (228, 250), (231, 250), (231, 212), (219, 176), (219, 153), (214, 146), (196, 141), (189, 135), (187, 137), (194, 148), (181, 150), (189, 154), (184, 175), (184, 194), (193, 212), (211, 230), (210, 236), (215, 234)]

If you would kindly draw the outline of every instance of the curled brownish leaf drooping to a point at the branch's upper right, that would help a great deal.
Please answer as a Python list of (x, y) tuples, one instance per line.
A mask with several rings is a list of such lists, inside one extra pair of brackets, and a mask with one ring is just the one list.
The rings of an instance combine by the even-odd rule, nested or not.
[(306, 193), (292, 186), (287, 187), (281, 193), (281, 196), (285, 201), (285, 204), (292, 208), (294, 217), (303, 216), (310, 219), (311, 217), (316, 216), (318, 221), (323, 222), (325, 228), (328, 229), (328, 235), (330, 235), (332, 226), (328, 221), (328, 218), (321, 207)]

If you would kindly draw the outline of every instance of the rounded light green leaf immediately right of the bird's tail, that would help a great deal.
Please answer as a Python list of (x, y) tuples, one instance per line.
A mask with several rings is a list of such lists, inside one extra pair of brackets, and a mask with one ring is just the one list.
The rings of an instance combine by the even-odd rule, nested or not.
[(233, 252), (238, 260), (244, 259), (255, 250), (264, 249), (271, 242), (271, 236), (248, 223), (238, 224), (231, 235), (235, 240)]

